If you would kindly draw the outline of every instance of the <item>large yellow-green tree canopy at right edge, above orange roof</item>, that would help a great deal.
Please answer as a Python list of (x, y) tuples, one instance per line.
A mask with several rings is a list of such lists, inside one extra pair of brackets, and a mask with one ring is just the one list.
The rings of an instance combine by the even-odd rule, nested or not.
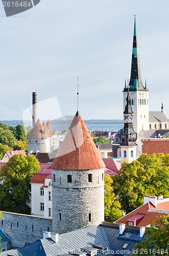
[(131, 163), (124, 162), (113, 185), (127, 214), (142, 205), (144, 195), (169, 197), (169, 155), (142, 154)]

